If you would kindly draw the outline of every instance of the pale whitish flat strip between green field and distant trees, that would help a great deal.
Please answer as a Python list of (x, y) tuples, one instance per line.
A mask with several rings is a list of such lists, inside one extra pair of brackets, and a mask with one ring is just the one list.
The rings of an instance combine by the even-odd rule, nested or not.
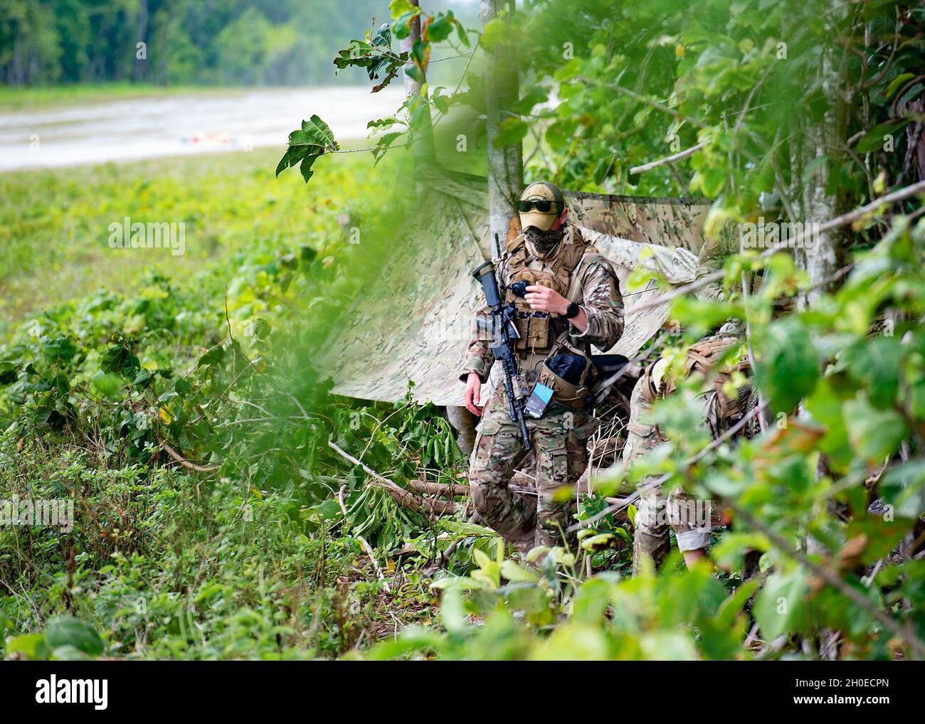
[(264, 146), (282, 153), (289, 132), (313, 113), (338, 141), (353, 141), (403, 100), (401, 87), (274, 88), (0, 113), (0, 172)]

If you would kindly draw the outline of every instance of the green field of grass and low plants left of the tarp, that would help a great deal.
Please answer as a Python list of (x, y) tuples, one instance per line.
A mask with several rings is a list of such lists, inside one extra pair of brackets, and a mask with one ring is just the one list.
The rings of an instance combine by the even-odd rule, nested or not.
[[(130, 658), (332, 657), (433, 622), (428, 579), (402, 564), (385, 603), (344, 528), (391, 549), (421, 522), (318, 450), (349, 429), (403, 481), (437, 469), (449, 425), (332, 401), (311, 371), (349, 258), (376, 246), (351, 245), (347, 220), (376, 215), (394, 169), (339, 154), (306, 186), (274, 177), (278, 155), (0, 176), (0, 500), (81, 501), (73, 566), (53, 528), (0, 526), (0, 581), (19, 582), (0, 587), (0, 657), (80, 656), (46, 646), (61, 616)], [(183, 222), (186, 253), (110, 248), (126, 215)], [(191, 472), (162, 441), (216, 467)], [(351, 510), (333, 528), (331, 485)]]

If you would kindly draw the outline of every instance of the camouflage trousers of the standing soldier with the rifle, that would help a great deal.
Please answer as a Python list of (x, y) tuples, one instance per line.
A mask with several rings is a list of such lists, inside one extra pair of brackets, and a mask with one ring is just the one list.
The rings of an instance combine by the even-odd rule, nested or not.
[[(515, 493), (511, 479), (524, 453), (520, 425), (512, 422), (503, 388), (492, 395), (475, 438), (469, 485), (482, 520), (522, 553), (558, 546), (573, 521), (574, 485), (587, 464), (585, 415), (568, 411), (526, 418), (536, 455), (536, 496)], [(585, 436), (586, 437), (586, 436)]]

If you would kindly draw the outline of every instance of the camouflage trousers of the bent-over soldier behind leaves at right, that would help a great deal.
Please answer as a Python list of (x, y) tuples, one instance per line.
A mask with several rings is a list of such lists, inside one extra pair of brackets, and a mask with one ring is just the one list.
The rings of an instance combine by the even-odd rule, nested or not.
[[(630, 421), (623, 448), (623, 464), (627, 467), (662, 443), (656, 427), (642, 422), (651, 409), (646, 384), (645, 376), (640, 377), (630, 397)], [(680, 550), (708, 547), (709, 514), (709, 500), (696, 500), (681, 489), (666, 491), (658, 476), (646, 478), (639, 485), (636, 503), (633, 573), (639, 572), (644, 557), (651, 558), (656, 566), (664, 560), (672, 547), (670, 528)]]

